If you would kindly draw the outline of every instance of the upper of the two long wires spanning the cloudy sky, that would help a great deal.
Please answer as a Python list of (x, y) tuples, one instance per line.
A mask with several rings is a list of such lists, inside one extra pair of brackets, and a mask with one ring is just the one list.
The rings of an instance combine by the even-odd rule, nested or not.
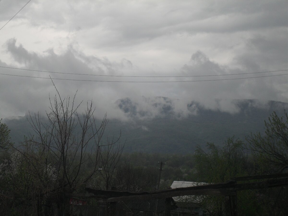
[(217, 74), (217, 75), (191, 75), (191, 76), (123, 76), (123, 75), (98, 75), (98, 74), (85, 74), (85, 73), (65, 73), (65, 72), (55, 72), (55, 71), (40, 71), (40, 70), (32, 70), (32, 69), (23, 69), (16, 67), (4, 67), (9, 69), (17, 69), (17, 70), (25, 70), (25, 71), (36, 71), (36, 72), (45, 72), (45, 73), (60, 73), (60, 74), (73, 74), (73, 75), (86, 75), (86, 76), (102, 76), (102, 77), (211, 77), (211, 76), (227, 76), (227, 75), (242, 75), (242, 74), (254, 74), (254, 73), (270, 73), (270, 72), (280, 72), (280, 71), (288, 71), (286, 70), (278, 70), (278, 71), (264, 71), (264, 72), (252, 72), (252, 73), (234, 73), (234, 74)]

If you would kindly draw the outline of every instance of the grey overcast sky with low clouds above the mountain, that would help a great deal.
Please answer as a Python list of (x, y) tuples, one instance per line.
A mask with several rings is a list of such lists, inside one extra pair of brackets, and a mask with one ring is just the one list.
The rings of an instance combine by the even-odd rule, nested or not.
[[(28, 0), (0, 1), (0, 28)], [(288, 69), (288, 1), (31, 0), (0, 30), (0, 66), (113, 76), (199, 76)], [(288, 74), (288, 71), (205, 77), (108, 77), (0, 68), (0, 73), (98, 81), (198, 81)], [(0, 75), (0, 118), (49, 109), (51, 80)], [(123, 117), (115, 103), (132, 98), (175, 100), (187, 112), (235, 111), (231, 99), (288, 102), (288, 75), (201, 82), (119, 83), (54, 80), (77, 103), (93, 99), (97, 115)], [(142, 97), (144, 96), (144, 97)], [(143, 98), (146, 98), (145, 100)], [(215, 99), (216, 102), (215, 102)], [(220, 103), (219, 103), (220, 101)], [(155, 101), (154, 101), (155, 102)], [(147, 109), (151, 107), (147, 106)], [(144, 109), (144, 108), (143, 108)]]

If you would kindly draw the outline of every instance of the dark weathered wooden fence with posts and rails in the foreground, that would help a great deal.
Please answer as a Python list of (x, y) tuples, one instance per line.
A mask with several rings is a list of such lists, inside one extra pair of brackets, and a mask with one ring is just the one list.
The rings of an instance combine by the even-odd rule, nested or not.
[[(256, 182), (244, 182), (249, 180), (261, 180)], [(241, 182), (241, 183), (239, 183)], [(106, 203), (109, 206), (107, 215), (116, 215), (117, 202), (130, 200), (165, 199), (165, 216), (170, 216), (170, 198), (187, 195), (214, 195), (225, 196), (226, 216), (236, 216), (237, 191), (264, 189), (271, 187), (283, 187), (288, 185), (288, 173), (275, 175), (245, 176), (232, 178), (225, 183), (199, 185), (193, 187), (181, 187), (175, 189), (160, 190), (155, 192), (127, 192), (113, 190), (96, 190), (85, 188), (86, 194), (70, 194), (71, 197), (96, 198), (98, 203)], [(107, 208), (108, 209), (108, 208)]]

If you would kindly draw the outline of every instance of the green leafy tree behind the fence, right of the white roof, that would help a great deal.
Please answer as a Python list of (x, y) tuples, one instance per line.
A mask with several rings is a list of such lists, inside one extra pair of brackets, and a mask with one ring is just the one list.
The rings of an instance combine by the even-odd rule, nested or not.
[[(194, 181), (204, 183), (220, 183), (232, 177), (248, 175), (248, 157), (243, 151), (241, 140), (228, 138), (221, 148), (213, 143), (207, 143), (207, 151), (200, 146), (195, 151)], [(255, 200), (255, 194), (238, 192), (238, 211), (241, 215), (257, 215), (260, 211)], [(223, 196), (202, 196), (196, 198), (209, 215), (225, 215), (225, 201)]]

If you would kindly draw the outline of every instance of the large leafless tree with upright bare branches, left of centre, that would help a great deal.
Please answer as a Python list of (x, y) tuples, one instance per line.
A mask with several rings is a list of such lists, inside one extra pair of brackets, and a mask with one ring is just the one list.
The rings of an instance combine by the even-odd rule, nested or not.
[(102, 167), (107, 167), (105, 163), (111, 164), (111, 158), (114, 158), (112, 164), (117, 163), (123, 151), (119, 145), (114, 147), (116, 142), (113, 141), (100, 145), (107, 118), (105, 114), (97, 126), (92, 101), (87, 102), (85, 112), (78, 114), (82, 102), (75, 105), (76, 94), (73, 98), (61, 98), (56, 91), (54, 100), (49, 97), (48, 122), (39, 113), (29, 113), (29, 123), (36, 136), (29, 136), (24, 145), (17, 148), (33, 175), (30, 188), (37, 201), (38, 215), (52, 214), (52, 209), (56, 209), (57, 214), (69, 215), (67, 194), (79, 192), (95, 177), (103, 154), (109, 155), (109, 160), (101, 161)]

